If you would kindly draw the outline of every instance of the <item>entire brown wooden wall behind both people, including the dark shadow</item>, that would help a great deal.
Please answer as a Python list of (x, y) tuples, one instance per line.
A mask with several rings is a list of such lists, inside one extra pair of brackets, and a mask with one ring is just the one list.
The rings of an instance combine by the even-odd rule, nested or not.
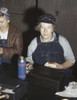
[(0, 0), (1, 6), (9, 9), (11, 23), (23, 34), (25, 57), (30, 41), (39, 34), (34, 30), (36, 18), (46, 12), (56, 17), (56, 30), (68, 39), (77, 59), (77, 0)]

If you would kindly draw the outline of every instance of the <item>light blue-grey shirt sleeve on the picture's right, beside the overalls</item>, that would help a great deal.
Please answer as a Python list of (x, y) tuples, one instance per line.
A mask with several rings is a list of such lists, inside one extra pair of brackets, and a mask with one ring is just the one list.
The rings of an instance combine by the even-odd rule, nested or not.
[(72, 48), (68, 42), (68, 40), (63, 37), (63, 36), (59, 36), (59, 43), (61, 44), (63, 50), (64, 50), (64, 57), (65, 60), (70, 60), (73, 63), (75, 63), (75, 56), (73, 54)]

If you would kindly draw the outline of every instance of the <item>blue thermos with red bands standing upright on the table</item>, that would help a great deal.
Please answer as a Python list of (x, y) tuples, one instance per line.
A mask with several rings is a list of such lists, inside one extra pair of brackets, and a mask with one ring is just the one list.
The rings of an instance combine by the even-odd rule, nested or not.
[(21, 80), (26, 79), (26, 61), (23, 56), (18, 59), (18, 78)]

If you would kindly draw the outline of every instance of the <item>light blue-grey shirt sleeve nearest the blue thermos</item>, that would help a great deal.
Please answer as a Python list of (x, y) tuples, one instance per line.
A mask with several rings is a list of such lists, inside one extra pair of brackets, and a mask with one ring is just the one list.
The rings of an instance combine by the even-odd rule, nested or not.
[(35, 37), (31, 43), (28, 46), (28, 50), (27, 50), (27, 57), (26, 57), (26, 61), (30, 62), (30, 63), (34, 63), (33, 59), (32, 59), (32, 54), (35, 51), (37, 47), (37, 38)]

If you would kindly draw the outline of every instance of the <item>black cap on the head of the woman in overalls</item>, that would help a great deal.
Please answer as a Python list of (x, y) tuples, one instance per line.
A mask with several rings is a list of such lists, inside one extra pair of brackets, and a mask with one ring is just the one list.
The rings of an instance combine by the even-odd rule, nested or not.
[(39, 22), (45, 22), (45, 23), (52, 23), (54, 24), (56, 22), (56, 18), (51, 15), (51, 14), (44, 14), (44, 15), (41, 15), (40, 17), (38, 17), (38, 23)]

